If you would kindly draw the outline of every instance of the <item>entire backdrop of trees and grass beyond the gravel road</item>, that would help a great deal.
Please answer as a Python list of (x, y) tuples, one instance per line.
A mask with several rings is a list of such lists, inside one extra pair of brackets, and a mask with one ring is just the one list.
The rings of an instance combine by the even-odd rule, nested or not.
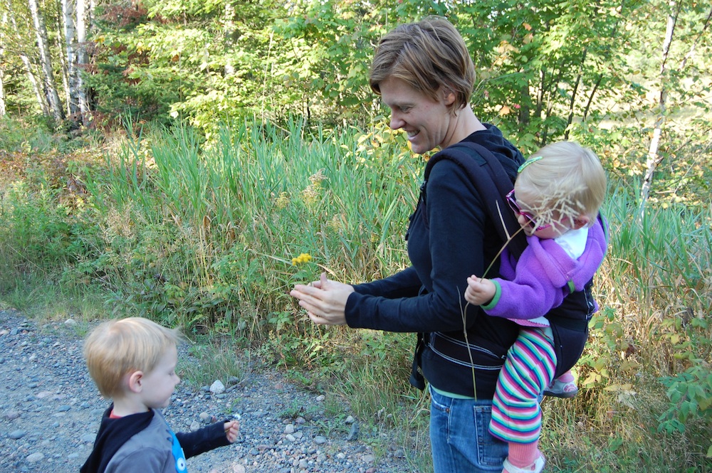
[(428, 156), (367, 70), (428, 14), (466, 38), (478, 117), (524, 154), (575, 139), (609, 173), (581, 392), (543, 403), (550, 470), (712, 471), (707, 2), (4, 0), (0, 303), (182, 326), (193, 383), (274, 363), (430, 471), (412, 335), (313, 326), (288, 297), (407, 265)]

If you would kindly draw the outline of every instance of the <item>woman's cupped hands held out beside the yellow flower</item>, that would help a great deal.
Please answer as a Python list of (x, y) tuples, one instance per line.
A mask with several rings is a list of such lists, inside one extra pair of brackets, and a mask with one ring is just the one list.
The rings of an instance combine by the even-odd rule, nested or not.
[(346, 301), (354, 292), (351, 285), (330, 281), (321, 273), (318, 281), (310, 285), (295, 285), (289, 295), (299, 299), (299, 305), (307, 309), (311, 321), (323, 325), (346, 324)]

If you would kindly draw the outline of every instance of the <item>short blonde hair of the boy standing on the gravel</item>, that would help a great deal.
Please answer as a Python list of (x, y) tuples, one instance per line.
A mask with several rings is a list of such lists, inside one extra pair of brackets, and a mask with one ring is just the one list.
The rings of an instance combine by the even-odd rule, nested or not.
[(150, 373), (171, 346), (180, 341), (176, 329), (167, 329), (142, 317), (105, 321), (84, 341), (89, 374), (105, 398), (122, 393), (127, 373)]

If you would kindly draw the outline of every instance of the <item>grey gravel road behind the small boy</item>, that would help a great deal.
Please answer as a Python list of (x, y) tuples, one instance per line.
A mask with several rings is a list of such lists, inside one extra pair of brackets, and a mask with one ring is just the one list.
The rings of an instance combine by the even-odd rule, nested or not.
[[(78, 332), (73, 321), (38, 325), (0, 311), (1, 473), (78, 472), (88, 457), (108, 402), (86, 371)], [(184, 348), (179, 365), (195, 362)], [(399, 447), (372, 450), (373, 437), (359, 435), (347, 406), (337, 415), (325, 410), (329, 393), (300, 390), (271, 368), (254, 371), (221, 380), (223, 393), (185, 381), (177, 387), (164, 410), (176, 431), (241, 418), (237, 442), (189, 459), (189, 472), (417, 471)]]

